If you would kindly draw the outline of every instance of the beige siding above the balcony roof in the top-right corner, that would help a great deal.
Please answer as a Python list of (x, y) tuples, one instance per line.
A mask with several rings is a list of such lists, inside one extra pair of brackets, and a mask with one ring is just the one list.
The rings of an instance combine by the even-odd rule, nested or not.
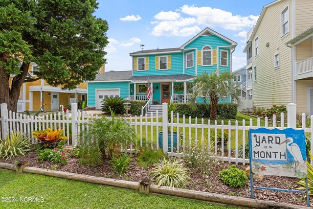
[(313, 0), (296, 0), (295, 10), (295, 35), (297, 36), (313, 26)]

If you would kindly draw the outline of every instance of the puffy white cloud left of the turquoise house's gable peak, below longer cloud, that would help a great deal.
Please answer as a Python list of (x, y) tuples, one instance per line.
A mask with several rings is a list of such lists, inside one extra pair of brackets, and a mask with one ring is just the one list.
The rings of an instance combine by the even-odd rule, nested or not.
[(158, 23), (152, 31), (155, 36), (190, 36), (201, 31), (200, 27), (192, 24), (196, 23), (195, 18), (179, 18), (176, 21), (162, 21)]

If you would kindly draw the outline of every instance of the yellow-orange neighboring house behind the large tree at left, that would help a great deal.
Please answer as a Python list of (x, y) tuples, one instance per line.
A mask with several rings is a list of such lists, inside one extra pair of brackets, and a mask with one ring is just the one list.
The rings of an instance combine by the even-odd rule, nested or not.
[[(36, 77), (37, 64), (31, 63), (28, 69), (28, 77)], [(104, 65), (99, 73), (104, 72)], [(13, 77), (9, 79), (9, 85)], [(17, 112), (39, 111), (41, 103), (45, 110), (59, 110), (60, 105), (66, 106), (78, 101), (87, 102), (88, 84), (81, 83), (76, 89), (62, 90), (60, 87), (49, 86), (44, 79), (23, 83), (17, 105)], [(61, 109), (60, 109), (61, 110)]]

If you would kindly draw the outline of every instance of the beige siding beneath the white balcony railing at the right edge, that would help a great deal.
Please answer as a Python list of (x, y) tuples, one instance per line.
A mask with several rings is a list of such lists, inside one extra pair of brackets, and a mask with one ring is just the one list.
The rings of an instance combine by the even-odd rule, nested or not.
[(299, 114), (307, 113), (307, 87), (313, 87), (313, 80), (296, 81), (296, 103)]

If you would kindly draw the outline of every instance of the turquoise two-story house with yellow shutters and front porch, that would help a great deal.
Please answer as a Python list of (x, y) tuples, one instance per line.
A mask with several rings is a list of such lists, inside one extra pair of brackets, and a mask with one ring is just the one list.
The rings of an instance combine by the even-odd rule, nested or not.
[[(88, 106), (100, 109), (103, 98), (115, 96), (147, 100), (148, 81), (153, 90), (151, 101), (188, 102), (188, 82), (204, 71), (230, 71), (236, 46), (234, 41), (205, 28), (178, 48), (130, 53), (132, 70), (104, 72), (88, 82)], [(197, 101), (203, 101), (201, 95)]]

